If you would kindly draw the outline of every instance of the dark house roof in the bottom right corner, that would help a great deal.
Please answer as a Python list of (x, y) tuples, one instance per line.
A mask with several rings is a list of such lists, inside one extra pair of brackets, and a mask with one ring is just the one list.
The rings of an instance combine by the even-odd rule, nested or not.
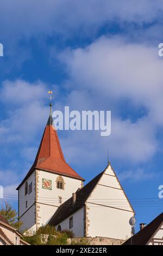
[(163, 224), (163, 212), (156, 217), (145, 228), (141, 229), (138, 233), (128, 239), (123, 245), (146, 245), (151, 237), (155, 234), (156, 230)]

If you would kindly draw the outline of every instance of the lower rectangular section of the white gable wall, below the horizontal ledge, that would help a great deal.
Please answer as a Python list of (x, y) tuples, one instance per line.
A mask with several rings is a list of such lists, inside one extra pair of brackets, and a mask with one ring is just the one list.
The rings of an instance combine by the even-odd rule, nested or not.
[(109, 237), (112, 239), (129, 239), (131, 228), (128, 224), (133, 213), (113, 209), (111, 207), (92, 206), (87, 203), (87, 234), (86, 236)]

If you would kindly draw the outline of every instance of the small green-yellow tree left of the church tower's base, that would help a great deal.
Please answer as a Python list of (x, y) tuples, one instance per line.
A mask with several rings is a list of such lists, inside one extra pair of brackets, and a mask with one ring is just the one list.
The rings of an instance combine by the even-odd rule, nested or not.
[(3, 216), (15, 229), (19, 229), (23, 224), (21, 221), (18, 221), (16, 210), (12, 209), (12, 206), (6, 202), (4, 203), (4, 206), (1, 206), (0, 215)]

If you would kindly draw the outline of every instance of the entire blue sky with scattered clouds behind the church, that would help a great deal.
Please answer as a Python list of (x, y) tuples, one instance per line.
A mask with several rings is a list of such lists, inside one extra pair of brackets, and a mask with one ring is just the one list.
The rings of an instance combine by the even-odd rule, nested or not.
[(67, 162), (87, 182), (104, 170), (109, 148), (136, 228), (162, 212), (162, 4), (1, 1), (0, 184), (11, 203), (35, 158), (52, 90), (53, 110), (112, 111), (107, 138), (97, 131), (58, 132)]

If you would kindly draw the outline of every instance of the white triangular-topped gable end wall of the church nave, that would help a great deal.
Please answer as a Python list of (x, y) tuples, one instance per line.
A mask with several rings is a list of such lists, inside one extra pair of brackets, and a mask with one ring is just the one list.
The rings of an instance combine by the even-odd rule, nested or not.
[(109, 165), (86, 201), (86, 236), (126, 240), (134, 216), (126, 195)]

